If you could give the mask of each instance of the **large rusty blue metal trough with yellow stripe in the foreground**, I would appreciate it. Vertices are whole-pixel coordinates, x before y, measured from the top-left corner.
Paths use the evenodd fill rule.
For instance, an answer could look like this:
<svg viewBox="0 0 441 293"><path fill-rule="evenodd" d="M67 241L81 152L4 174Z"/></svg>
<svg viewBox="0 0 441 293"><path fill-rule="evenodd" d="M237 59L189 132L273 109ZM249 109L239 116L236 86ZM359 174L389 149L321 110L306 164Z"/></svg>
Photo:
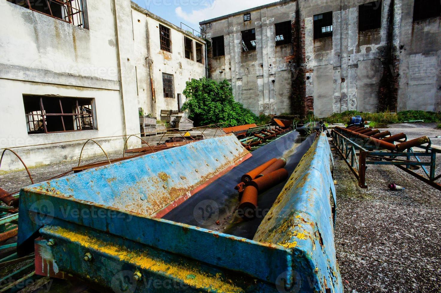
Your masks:
<svg viewBox="0 0 441 293"><path fill-rule="evenodd" d="M26 187L19 253L35 248L37 274L115 292L342 292L324 134L254 240L159 219L249 157L230 134Z"/></svg>

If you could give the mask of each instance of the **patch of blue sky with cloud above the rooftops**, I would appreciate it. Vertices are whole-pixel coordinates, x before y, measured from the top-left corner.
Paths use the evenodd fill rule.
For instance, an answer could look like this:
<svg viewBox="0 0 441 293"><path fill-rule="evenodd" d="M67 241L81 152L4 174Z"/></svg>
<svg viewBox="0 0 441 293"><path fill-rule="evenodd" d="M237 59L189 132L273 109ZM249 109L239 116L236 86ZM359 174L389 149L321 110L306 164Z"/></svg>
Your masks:
<svg viewBox="0 0 441 293"><path fill-rule="evenodd" d="M163 19L180 26L180 22L198 30L202 20L273 3L277 0L134 0ZM184 28L184 27L183 27Z"/></svg>

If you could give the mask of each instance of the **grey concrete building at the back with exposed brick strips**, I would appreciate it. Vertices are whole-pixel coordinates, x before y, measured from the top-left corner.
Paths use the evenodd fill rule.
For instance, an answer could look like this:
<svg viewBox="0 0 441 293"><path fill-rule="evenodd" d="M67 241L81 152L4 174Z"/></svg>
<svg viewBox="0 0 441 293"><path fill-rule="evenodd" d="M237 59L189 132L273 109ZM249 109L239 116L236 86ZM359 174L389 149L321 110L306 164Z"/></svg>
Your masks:
<svg viewBox="0 0 441 293"><path fill-rule="evenodd" d="M441 111L440 6L282 0L203 21L215 48L208 50L209 74L231 80L236 99L255 114ZM287 20L292 31L284 35ZM255 48L242 49L243 32L253 29ZM290 44L277 45L286 35Z"/></svg>

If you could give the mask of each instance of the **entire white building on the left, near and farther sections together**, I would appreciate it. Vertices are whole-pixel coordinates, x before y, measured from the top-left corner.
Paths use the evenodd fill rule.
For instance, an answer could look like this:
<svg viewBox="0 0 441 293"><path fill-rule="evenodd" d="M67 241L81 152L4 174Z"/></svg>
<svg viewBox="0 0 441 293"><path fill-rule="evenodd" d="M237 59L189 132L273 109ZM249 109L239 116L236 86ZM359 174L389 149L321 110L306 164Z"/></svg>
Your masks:
<svg viewBox="0 0 441 293"><path fill-rule="evenodd" d="M202 63L181 58L186 32L129 0L53 2L0 0L8 23L0 31L0 149L14 148L28 167L78 160L90 138L122 153L126 137L140 133L138 107L153 115L178 108L177 95L164 98L162 71L175 76L175 93L189 78L206 75L205 56ZM172 54L156 48L159 22L173 30ZM196 39L205 45L193 37L194 46ZM138 145L139 139L128 141ZM100 153L89 143L82 157ZM5 155L0 172L20 168Z"/></svg>

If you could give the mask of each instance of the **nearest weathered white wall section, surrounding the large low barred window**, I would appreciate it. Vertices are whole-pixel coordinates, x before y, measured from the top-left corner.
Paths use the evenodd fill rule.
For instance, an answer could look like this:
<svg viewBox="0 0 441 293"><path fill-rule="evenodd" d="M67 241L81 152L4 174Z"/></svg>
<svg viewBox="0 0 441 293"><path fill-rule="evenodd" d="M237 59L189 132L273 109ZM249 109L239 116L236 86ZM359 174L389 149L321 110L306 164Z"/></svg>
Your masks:
<svg viewBox="0 0 441 293"><path fill-rule="evenodd" d="M0 124L7 126L0 129L0 148L139 133L135 71L128 61L133 51L124 46L131 22L122 21L130 19L130 10L127 0L88 1L89 29L83 29L0 0L0 19L8 24L0 31ZM93 98L97 130L27 134L22 94ZM122 151L122 138L101 142L106 151ZM78 159L82 143L16 151L32 167ZM90 144L83 155L99 153ZM5 157L0 171L22 168L10 158Z"/></svg>

